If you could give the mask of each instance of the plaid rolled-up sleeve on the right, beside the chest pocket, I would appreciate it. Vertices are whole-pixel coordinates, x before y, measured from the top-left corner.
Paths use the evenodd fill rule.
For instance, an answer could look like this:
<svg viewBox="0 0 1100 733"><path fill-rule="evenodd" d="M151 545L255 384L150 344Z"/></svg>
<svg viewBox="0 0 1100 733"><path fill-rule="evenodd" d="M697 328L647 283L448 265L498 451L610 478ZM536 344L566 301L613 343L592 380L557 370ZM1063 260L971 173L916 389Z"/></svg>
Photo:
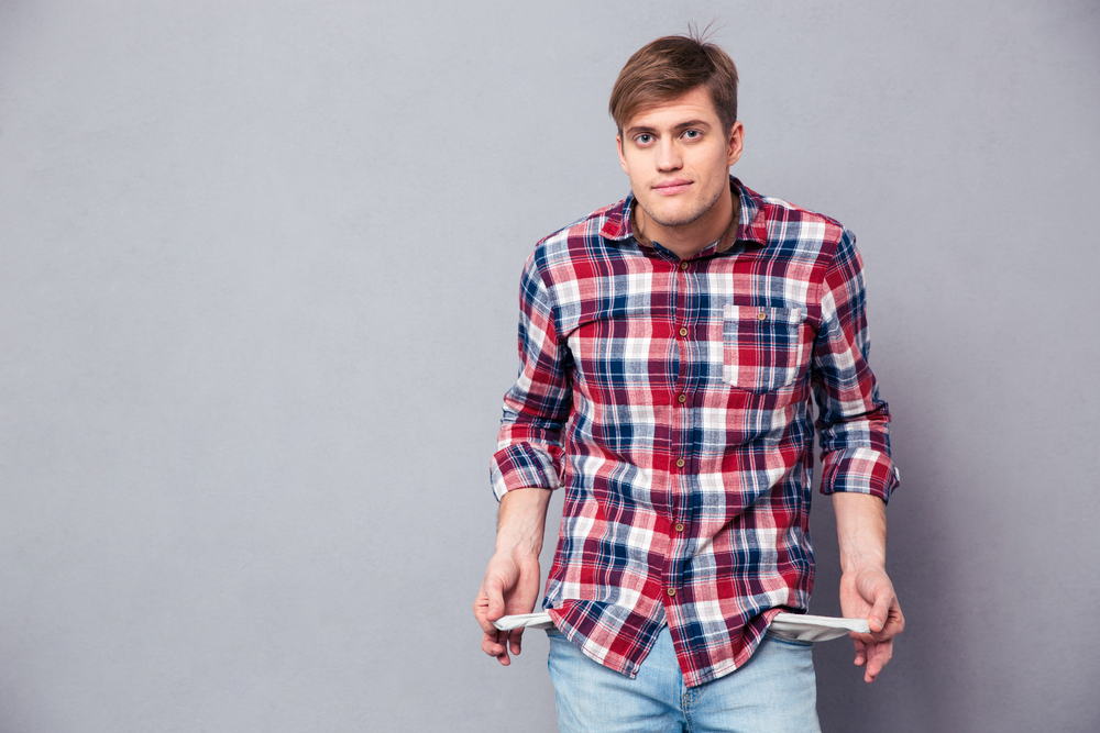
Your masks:
<svg viewBox="0 0 1100 733"><path fill-rule="evenodd" d="M899 485L890 457L890 410L867 364L866 295L855 236L844 231L822 282L822 324L813 385L822 446L822 493L851 491L890 500Z"/></svg>

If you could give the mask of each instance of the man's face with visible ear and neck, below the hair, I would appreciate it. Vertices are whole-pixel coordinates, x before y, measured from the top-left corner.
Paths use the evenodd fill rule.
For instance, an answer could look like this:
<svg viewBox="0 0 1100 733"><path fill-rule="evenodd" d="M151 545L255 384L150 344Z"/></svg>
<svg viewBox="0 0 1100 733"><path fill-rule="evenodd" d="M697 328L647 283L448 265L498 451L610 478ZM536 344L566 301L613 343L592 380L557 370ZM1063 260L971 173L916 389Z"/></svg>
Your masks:
<svg viewBox="0 0 1100 733"><path fill-rule="evenodd" d="M729 166L741 156L743 138L741 123L723 130L710 92L696 87L641 110L615 140L638 206L669 234L728 216Z"/></svg>

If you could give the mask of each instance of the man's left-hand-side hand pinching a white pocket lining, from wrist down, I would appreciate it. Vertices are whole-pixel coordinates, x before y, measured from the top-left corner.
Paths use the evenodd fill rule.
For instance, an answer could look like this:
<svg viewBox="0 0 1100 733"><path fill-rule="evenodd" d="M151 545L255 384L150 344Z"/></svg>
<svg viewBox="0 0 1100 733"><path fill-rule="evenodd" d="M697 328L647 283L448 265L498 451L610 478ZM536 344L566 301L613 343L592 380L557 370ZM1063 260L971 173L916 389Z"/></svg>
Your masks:
<svg viewBox="0 0 1100 733"><path fill-rule="evenodd" d="M502 617L530 613L539 596L539 558L518 552L497 552L485 569L474 599L474 618L482 628L482 651L504 666L512 664L508 649L518 655L522 629L501 631L493 625Z"/></svg>

